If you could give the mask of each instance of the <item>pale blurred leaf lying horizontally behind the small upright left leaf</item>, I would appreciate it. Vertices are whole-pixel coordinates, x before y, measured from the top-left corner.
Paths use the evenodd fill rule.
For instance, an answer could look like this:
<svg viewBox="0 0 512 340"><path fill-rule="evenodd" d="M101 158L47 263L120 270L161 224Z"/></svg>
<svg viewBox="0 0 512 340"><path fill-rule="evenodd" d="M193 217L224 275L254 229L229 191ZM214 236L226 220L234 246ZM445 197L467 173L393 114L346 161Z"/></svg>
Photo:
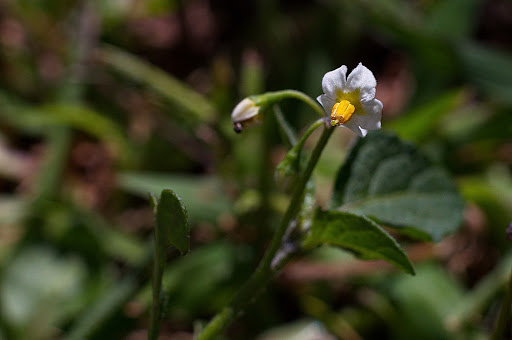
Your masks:
<svg viewBox="0 0 512 340"><path fill-rule="evenodd" d="M118 185L143 198L148 192L173 188L185 203L192 221L215 221L231 209L228 198L220 189L220 181L214 176L124 172L118 176Z"/></svg>

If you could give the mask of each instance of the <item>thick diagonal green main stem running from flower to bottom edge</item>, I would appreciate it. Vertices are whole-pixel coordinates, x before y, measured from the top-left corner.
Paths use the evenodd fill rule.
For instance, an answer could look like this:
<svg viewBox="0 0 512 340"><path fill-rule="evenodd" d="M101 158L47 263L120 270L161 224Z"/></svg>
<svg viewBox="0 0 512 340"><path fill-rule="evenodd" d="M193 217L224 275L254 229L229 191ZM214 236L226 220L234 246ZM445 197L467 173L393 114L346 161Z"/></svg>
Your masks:
<svg viewBox="0 0 512 340"><path fill-rule="evenodd" d="M304 189L306 187L313 169L322 154L322 151L329 140L334 128L325 127L323 133L315 146L311 157L309 158L306 170L299 178L293 196L288 206L279 228L276 230L274 237L267 248L263 259L261 260L258 268L254 271L249 280L234 296L231 303L224 307L220 313L218 313L210 323L206 325L204 330L198 335L196 340L208 340L215 339L220 333L222 333L227 326L245 309L245 307L254 299L254 297L260 293L267 284L279 273L280 269L290 260L291 256L285 257L276 266L272 266L272 259L276 255L277 251L281 247L283 236L292 220L299 210Z"/></svg>

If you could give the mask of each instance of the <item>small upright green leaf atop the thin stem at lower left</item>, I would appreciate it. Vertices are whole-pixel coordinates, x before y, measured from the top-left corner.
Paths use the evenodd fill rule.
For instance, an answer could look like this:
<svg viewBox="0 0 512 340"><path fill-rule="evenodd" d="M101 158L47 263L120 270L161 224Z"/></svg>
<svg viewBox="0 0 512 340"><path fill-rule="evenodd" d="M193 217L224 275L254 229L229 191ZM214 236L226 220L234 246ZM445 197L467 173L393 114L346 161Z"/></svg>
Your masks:
<svg viewBox="0 0 512 340"><path fill-rule="evenodd" d="M190 227L187 209L181 198L172 190L163 190L156 208L156 227L159 242L174 246L182 254L190 249Z"/></svg>

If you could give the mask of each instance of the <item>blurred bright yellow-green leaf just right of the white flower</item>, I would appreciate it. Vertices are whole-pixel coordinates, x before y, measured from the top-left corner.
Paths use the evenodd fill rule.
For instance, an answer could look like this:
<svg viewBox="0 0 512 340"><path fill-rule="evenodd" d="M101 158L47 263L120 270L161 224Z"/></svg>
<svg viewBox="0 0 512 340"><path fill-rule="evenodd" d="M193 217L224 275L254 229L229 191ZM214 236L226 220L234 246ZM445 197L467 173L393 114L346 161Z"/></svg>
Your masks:
<svg viewBox="0 0 512 340"><path fill-rule="evenodd" d="M459 106L464 99L461 90L449 92L427 104L398 117L386 125L401 138L422 141L435 132L441 118Z"/></svg>

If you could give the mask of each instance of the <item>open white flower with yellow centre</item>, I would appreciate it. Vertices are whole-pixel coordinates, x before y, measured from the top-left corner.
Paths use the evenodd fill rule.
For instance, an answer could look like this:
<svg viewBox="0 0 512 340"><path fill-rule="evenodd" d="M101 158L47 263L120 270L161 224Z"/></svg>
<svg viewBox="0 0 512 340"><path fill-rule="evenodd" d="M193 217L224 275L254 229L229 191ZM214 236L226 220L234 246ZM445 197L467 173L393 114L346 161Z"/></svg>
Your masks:
<svg viewBox="0 0 512 340"><path fill-rule="evenodd" d="M317 100L331 117L332 126L345 126L361 137L380 129L382 103L375 99L377 81L372 71L359 63L347 77L345 65L327 72L322 79L325 94Z"/></svg>

